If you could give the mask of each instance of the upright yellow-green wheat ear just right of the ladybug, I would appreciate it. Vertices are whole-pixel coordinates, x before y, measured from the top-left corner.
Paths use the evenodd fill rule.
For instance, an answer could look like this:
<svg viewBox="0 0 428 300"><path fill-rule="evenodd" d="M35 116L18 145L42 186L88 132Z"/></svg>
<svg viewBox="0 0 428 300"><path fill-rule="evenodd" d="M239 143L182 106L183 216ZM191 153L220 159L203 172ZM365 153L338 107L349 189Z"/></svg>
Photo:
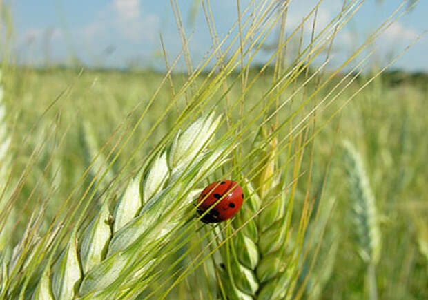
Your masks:
<svg viewBox="0 0 428 300"><path fill-rule="evenodd" d="M246 198L232 222L240 230L221 248L222 284L231 299L282 299L295 284L295 262L286 249L289 212L276 162L277 141L259 142L267 135L264 129L257 134L255 147L263 147L254 159L258 171L242 182Z"/></svg>

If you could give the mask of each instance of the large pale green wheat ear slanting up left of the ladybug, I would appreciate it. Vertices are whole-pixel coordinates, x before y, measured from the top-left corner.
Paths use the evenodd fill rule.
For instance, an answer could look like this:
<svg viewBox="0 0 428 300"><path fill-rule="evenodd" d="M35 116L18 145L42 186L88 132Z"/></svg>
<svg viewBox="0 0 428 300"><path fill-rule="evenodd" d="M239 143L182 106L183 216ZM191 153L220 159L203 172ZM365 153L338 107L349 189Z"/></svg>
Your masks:
<svg viewBox="0 0 428 300"><path fill-rule="evenodd" d="M219 123L211 113L177 133L171 148L157 153L130 180L115 206L113 225L104 203L83 235L73 232L33 297L106 299L148 276L171 232L186 222L195 183L226 162L226 146L207 150ZM113 283L117 289L110 288Z"/></svg>

